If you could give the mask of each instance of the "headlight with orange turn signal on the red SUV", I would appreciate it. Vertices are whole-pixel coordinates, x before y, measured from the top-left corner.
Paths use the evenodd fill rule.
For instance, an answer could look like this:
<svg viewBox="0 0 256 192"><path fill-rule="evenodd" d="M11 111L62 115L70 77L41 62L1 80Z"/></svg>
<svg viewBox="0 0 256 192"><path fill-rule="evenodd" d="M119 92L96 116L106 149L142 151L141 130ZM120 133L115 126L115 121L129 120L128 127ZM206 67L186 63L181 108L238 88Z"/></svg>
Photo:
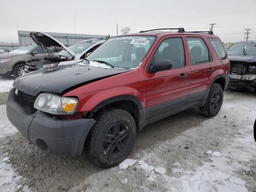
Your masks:
<svg viewBox="0 0 256 192"><path fill-rule="evenodd" d="M78 99L61 97L56 94L42 93L34 103L34 108L57 115L74 114Z"/></svg>

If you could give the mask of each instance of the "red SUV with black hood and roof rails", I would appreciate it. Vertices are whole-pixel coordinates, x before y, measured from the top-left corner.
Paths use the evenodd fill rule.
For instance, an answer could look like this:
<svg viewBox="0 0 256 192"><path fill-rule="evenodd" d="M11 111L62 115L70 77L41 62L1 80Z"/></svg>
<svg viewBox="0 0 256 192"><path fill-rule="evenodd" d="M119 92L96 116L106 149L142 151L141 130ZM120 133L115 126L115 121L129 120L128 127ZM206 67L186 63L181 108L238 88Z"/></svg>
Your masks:
<svg viewBox="0 0 256 192"><path fill-rule="evenodd" d="M136 132L199 106L222 106L230 62L212 32L142 31L110 38L77 64L14 81L7 116L44 152L78 156L100 167L122 162Z"/></svg>

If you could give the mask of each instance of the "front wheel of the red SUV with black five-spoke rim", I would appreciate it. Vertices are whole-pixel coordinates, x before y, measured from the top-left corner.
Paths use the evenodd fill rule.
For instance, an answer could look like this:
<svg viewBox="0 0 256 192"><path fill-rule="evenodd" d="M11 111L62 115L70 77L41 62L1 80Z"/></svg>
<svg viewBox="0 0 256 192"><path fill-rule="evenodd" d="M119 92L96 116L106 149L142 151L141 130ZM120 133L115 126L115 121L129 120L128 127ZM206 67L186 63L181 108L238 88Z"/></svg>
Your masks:
<svg viewBox="0 0 256 192"><path fill-rule="evenodd" d="M101 168L122 162L131 152L136 138L136 124L125 110L110 108L98 113L86 139L90 160ZM105 142L104 142L105 141Z"/></svg>

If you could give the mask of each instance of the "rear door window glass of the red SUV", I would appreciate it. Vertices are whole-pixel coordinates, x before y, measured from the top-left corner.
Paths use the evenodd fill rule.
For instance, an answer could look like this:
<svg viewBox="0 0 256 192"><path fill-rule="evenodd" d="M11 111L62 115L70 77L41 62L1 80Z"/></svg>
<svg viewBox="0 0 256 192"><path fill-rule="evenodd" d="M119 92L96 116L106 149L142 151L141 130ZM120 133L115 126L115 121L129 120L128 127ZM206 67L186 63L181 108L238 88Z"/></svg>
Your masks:
<svg viewBox="0 0 256 192"><path fill-rule="evenodd" d="M211 62L208 47L201 38L187 37L191 65Z"/></svg>

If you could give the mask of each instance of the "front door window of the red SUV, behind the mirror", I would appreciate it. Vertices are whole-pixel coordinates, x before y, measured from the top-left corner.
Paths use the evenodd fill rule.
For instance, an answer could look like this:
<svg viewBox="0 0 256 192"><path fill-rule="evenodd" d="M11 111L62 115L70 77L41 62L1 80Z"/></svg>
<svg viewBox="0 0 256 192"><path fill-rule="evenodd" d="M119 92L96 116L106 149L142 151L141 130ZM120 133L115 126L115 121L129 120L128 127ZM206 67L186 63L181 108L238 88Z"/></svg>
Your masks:
<svg viewBox="0 0 256 192"><path fill-rule="evenodd" d="M170 60L172 68L180 68L185 66L184 46L182 38L165 39L156 50L151 64L158 60Z"/></svg>

